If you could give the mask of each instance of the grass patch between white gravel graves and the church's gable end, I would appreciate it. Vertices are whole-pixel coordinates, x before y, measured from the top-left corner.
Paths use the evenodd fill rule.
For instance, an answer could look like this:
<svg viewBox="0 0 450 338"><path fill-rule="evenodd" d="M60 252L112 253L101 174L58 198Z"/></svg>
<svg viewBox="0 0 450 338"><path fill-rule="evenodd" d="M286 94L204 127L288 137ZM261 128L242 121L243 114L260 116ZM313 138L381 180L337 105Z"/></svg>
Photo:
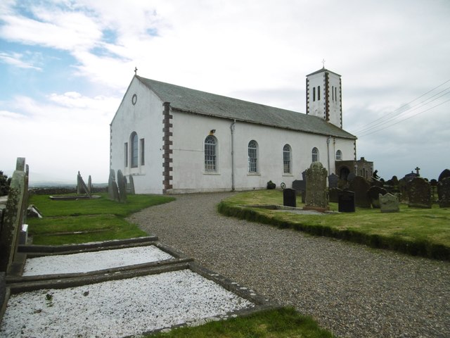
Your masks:
<svg viewBox="0 0 450 338"><path fill-rule="evenodd" d="M173 197L130 195L126 204L100 199L55 201L49 195L32 195L30 204L39 208L44 218L28 218L33 244L62 245L100 242L111 239L143 237L148 234L125 217L149 206L173 201Z"/></svg>

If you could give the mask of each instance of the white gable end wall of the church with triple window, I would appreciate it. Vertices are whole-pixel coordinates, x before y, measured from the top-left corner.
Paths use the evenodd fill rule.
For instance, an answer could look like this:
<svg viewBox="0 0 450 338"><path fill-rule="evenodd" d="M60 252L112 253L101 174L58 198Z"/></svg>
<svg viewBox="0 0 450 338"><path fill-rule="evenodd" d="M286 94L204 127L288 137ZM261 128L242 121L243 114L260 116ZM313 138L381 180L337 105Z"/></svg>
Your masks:
<svg viewBox="0 0 450 338"><path fill-rule="evenodd" d="M132 104L136 94L136 104ZM136 194L162 194L162 101L139 80L131 82L111 125L111 168L133 175ZM132 132L138 142L138 166L131 168ZM141 165L141 139L144 139L144 164ZM125 166L125 142L128 165Z"/></svg>

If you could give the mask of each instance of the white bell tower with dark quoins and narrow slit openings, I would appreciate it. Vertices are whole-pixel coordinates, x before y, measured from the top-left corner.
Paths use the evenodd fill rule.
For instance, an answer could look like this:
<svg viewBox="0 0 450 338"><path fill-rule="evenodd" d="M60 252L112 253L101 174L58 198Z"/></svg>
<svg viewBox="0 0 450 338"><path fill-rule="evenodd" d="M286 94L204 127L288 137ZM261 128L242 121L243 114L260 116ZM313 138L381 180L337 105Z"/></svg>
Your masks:
<svg viewBox="0 0 450 338"><path fill-rule="evenodd" d="M307 75L307 114L342 128L342 85L340 75L326 69Z"/></svg>

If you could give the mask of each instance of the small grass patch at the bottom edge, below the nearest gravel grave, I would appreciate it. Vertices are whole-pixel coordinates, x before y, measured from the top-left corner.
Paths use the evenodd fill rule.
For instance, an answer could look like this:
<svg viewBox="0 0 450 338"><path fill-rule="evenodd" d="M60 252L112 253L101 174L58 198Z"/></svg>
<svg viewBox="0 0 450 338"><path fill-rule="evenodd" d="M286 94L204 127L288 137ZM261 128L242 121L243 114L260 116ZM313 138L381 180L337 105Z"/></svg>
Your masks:
<svg viewBox="0 0 450 338"><path fill-rule="evenodd" d="M179 327L167 333L153 334L155 338L331 338L333 334L317 323L300 315L293 308L262 311L245 318L210 322L198 327Z"/></svg>

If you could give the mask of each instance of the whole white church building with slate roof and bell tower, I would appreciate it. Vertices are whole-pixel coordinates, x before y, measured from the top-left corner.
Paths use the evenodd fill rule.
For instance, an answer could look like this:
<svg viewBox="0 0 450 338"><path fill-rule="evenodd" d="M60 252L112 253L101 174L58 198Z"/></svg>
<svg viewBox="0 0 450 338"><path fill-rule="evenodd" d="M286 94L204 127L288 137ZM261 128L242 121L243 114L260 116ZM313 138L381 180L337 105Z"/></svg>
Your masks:
<svg viewBox="0 0 450 338"><path fill-rule="evenodd" d="M311 162L330 174L355 160L341 78L326 68L307 75L306 114L134 75L110 124L110 169L136 194L291 187Z"/></svg>

